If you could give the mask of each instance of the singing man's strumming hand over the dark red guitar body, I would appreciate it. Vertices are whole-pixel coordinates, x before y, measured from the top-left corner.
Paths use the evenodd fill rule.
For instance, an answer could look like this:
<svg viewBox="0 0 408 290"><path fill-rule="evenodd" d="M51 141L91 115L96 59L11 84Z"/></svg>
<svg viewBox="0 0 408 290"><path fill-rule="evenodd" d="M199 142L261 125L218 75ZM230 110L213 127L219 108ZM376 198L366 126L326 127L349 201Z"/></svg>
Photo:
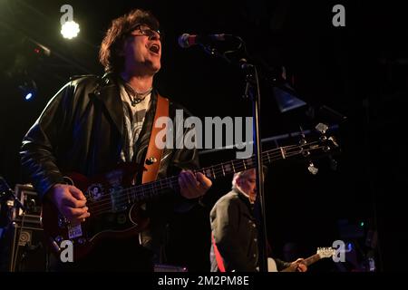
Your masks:
<svg viewBox="0 0 408 290"><path fill-rule="evenodd" d="M83 192L72 185L55 184L50 189L49 197L60 213L72 223L83 222L90 216Z"/></svg>

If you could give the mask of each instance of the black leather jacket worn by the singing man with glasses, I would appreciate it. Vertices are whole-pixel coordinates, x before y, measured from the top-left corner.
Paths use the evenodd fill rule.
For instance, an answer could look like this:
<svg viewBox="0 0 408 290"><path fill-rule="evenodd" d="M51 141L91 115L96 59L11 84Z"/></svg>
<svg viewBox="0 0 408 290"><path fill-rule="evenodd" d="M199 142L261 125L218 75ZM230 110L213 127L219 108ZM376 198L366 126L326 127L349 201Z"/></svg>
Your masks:
<svg viewBox="0 0 408 290"><path fill-rule="evenodd" d="M143 163L146 155L156 102L157 92L153 91L151 110L146 113L135 147L138 148L135 152L138 164ZM177 109L186 112L170 102L169 113L173 120ZM124 131L123 108L115 76L81 77L56 93L25 135L20 152L23 169L44 198L55 183L63 182L63 172L74 171L92 177L114 169L121 162ZM198 167L197 150L166 149L158 178L176 174L177 169Z"/></svg>

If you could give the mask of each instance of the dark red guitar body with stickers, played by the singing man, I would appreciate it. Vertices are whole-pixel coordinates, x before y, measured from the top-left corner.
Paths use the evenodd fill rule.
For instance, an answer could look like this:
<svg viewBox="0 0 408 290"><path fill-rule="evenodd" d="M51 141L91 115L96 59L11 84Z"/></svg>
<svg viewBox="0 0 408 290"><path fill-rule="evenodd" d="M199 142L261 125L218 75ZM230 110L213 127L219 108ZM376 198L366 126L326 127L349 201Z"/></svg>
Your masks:
<svg viewBox="0 0 408 290"><path fill-rule="evenodd" d="M147 227L141 204L126 190L131 187L137 167L134 163L124 163L109 173L88 179L73 173L67 176L73 186L83 191L86 206L91 216L81 224L72 224L53 206L44 200L42 224L53 250L58 254L63 240L73 243L73 258L86 256L96 243L106 237L135 237Z"/></svg>

